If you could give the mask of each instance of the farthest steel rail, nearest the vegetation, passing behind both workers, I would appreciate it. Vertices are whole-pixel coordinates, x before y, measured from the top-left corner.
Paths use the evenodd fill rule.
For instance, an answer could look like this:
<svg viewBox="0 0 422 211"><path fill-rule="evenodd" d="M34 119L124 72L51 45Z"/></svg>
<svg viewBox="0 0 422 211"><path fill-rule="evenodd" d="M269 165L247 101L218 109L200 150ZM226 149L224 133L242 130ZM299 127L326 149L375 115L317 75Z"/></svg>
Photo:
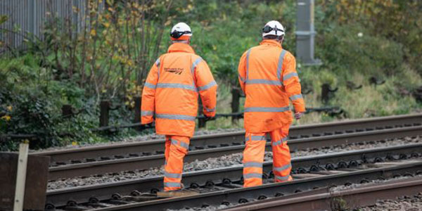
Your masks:
<svg viewBox="0 0 422 211"><path fill-rule="evenodd" d="M329 122L323 124L309 124L290 128L290 139L321 136L345 132L362 132L365 130L383 129L392 127L407 127L421 125L422 114L395 115L389 117L375 117L343 122ZM191 149L205 146L226 146L227 143L243 143L245 132L229 132L194 136L191 139ZM51 162L68 162L70 160L85 160L86 158L100 158L110 155L128 155L130 153L159 153L164 149L164 140L141 141L135 143L116 143L107 146L87 146L83 148L63 149L31 153L32 155L50 156Z"/></svg>

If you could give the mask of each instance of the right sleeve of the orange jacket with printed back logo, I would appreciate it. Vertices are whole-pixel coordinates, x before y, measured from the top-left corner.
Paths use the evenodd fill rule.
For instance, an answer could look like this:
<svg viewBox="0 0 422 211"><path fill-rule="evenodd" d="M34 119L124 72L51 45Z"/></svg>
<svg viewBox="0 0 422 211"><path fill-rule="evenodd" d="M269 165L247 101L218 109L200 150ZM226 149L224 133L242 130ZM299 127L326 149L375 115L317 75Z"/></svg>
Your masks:
<svg viewBox="0 0 422 211"><path fill-rule="evenodd" d="M205 60L197 58L199 63L194 67L196 78L196 87L199 91L200 99L203 102L203 113L207 117L215 116L215 108L217 106L217 82Z"/></svg>

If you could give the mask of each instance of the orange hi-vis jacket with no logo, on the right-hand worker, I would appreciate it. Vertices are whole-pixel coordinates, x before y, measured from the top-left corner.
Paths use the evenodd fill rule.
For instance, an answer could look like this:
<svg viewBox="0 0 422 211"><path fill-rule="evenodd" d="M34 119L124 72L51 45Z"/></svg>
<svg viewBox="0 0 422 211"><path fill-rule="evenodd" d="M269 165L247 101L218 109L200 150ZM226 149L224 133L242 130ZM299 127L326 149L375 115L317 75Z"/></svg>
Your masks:
<svg viewBox="0 0 422 211"><path fill-rule="evenodd" d="M295 57L274 40L264 40L241 57L239 82L245 93L246 132L271 132L293 120L295 112L305 112Z"/></svg>

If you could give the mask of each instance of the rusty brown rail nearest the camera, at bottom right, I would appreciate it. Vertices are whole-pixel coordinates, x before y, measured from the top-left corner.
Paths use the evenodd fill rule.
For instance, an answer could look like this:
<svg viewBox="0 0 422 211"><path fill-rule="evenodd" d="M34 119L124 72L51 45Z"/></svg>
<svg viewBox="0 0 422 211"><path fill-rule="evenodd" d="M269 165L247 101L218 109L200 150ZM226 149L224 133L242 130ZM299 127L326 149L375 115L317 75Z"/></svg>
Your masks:
<svg viewBox="0 0 422 211"><path fill-rule="evenodd" d="M257 201L247 205L224 209L225 211L241 210L265 210L278 211L283 207L286 211L296 210L331 210L331 205L339 205L343 208L354 209L368 205L374 205L377 200L395 199L401 196L414 196L422 190L422 179L400 179L398 181L383 184L371 184L357 188L334 191L331 193L314 193L295 198L274 198L271 200ZM347 207L344 207L347 205ZM341 206L341 205L340 205Z"/></svg>

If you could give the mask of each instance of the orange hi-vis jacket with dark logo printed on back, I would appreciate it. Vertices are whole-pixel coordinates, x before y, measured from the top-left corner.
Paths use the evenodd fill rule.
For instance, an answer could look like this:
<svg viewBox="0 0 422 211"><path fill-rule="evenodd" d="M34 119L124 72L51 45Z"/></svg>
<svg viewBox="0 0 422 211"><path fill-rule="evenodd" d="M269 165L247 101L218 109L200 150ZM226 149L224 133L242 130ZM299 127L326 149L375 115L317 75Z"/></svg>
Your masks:
<svg viewBox="0 0 422 211"><path fill-rule="evenodd" d="M141 123L153 122L157 134L193 136L198 113L215 116L217 83L205 60L188 44L174 43L151 68L142 91Z"/></svg>

